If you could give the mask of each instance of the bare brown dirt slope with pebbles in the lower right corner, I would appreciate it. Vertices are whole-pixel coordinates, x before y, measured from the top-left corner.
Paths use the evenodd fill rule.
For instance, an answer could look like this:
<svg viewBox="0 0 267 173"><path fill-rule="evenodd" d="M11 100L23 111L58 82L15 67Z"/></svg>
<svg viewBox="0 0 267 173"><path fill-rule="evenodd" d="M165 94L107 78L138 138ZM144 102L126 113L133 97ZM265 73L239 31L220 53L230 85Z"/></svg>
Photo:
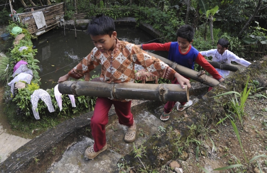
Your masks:
<svg viewBox="0 0 267 173"><path fill-rule="evenodd" d="M261 93L267 92L263 90ZM240 122L235 122L242 142L243 154L236 133L229 119L216 125L212 122L210 126L200 131L197 140L199 145L199 161L196 160L196 143L191 143L186 151L188 159L178 160L184 173L267 173L267 158L259 157L249 164L249 161L262 154L267 154L267 99L248 98L245 103L244 129ZM223 119L224 117L221 117ZM213 143L214 146L213 147ZM245 157L247 159L245 159ZM247 160L247 161L246 161ZM257 163L258 161L258 163ZM214 171L234 164L243 167ZM260 169L259 169L259 166Z"/></svg>

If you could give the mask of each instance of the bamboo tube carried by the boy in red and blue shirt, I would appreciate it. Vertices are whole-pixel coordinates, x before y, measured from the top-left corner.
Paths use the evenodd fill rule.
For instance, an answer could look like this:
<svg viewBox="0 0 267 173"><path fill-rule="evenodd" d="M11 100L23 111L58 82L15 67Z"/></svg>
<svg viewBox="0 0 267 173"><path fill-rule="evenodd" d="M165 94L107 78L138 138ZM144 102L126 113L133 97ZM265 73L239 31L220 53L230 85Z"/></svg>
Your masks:
<svg viewBox="0 0 267 173"><path fill-rule="evenodd" d="M177 64L176 62L173 62L169 59L166 59L166 58L159 56L159 55L156 55L154 53L151 53L151 52L147 52L147 53L151 56L154 56L155 58L160 59L164 63L168 64L170 67L172 67L175 71L177 71L182 76L186 76L188 78L191 78L195 81L198 81L198 82L205 84L205 85L208 85L210 87L215 87L218 84L220 84L220 82L218 80L211 78L208 75L198 76L197 71L194 71L194 70L189 69L187 67L181 66L181 65Z"/></svg>

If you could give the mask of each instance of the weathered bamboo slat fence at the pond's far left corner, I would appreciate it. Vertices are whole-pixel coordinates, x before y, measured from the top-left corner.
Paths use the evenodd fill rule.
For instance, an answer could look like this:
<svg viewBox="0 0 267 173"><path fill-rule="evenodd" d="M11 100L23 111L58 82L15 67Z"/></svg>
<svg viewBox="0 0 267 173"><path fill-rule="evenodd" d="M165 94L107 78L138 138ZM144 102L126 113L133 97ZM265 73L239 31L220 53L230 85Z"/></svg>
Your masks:
<svg viewBox="0 0 267 173"><path fill-rule="evenodd" d="M37 11L43 11L43 14L45 17L46 27L43 27L40 29L37 28L34 17L32 15L33 12L37 12ZM58 23L60 23L61 19L63 19L63 17L64 17L64 2L55 4L53 6L48 6L48 7L42 8L42 9L37 9L34 11L21 13L21 14L18 14L18 16L20 18L20 21L23 24L28 25L28 31L31 34L35 34L39 31L43 31L43 30L45 30L45 32L47 32L47 31L51 30L52 28L54 28Z"/></svg>

